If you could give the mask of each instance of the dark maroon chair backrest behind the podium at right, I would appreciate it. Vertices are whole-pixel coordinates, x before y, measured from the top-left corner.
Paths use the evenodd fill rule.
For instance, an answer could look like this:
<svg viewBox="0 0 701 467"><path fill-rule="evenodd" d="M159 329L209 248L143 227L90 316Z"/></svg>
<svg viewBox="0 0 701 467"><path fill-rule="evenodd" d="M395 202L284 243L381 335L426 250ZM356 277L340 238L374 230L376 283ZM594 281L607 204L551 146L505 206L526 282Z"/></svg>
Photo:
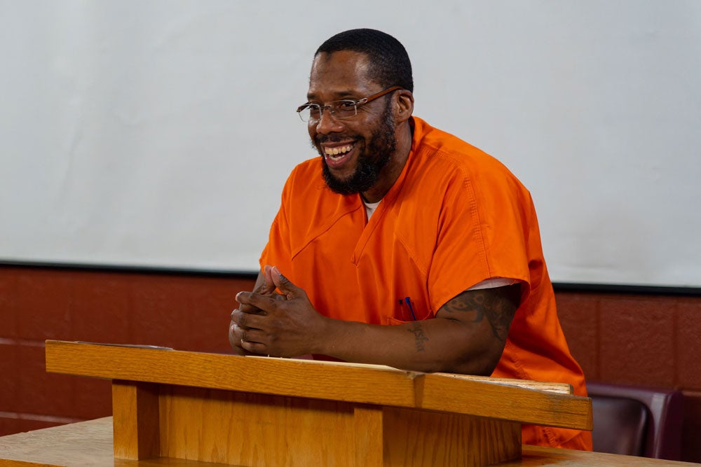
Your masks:
<svg viewBox="0 0 701 467"><path fill-rule="evenodd" d="M587 382L594 451L678 461L683 396L676 389Z"/></svg>

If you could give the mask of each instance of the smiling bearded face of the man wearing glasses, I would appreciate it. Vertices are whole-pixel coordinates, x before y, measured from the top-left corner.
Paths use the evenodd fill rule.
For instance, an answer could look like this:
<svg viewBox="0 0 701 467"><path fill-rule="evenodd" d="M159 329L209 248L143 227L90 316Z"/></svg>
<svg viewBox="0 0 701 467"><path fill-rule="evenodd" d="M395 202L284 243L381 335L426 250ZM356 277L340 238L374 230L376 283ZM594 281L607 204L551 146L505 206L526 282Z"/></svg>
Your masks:
<svg viewBox="0 0 701 467"><path fill-rule="evenodd" d="M362 99L382 90L369 81L367 56L341 51L315 57L307 99L321 105ZM322 156L324 180L342 195L362 193L381 179L381 169L395 152L395 122L390 95L358 107L358 115L339 120L325 110L308 125L312 144Z"/></svg>

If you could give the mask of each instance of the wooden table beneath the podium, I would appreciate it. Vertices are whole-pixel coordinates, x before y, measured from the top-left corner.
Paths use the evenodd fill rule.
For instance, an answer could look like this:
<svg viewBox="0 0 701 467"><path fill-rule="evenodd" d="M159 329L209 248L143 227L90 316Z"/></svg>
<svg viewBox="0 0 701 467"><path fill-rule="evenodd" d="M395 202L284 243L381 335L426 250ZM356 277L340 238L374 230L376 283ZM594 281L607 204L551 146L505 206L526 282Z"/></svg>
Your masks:
<svg viewBox="0 0 701 467"><path fill-rule="evenodd" d="M524 446L522 459L496 464L498 467L661 467L699 465L701 464L536 446ZM0 467L10 466L224 467L224 464L165 458L142 461L114 459L112 417L105 417L0 437ZM228 465L228 467L231 466Z"/></svg>

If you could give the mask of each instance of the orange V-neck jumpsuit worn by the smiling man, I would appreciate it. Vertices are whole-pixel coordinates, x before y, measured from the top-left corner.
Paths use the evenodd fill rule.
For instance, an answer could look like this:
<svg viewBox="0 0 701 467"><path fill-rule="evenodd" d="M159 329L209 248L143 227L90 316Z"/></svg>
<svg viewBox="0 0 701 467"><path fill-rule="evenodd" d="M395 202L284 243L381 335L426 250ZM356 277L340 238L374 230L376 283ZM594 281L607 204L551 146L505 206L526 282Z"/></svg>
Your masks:
<svg viewBox="0 0 701 467"><path fill-rule="evenodd" d="M369 221L360 195L327 188L320 158L295 167L261 267L278 266L326 316L384 325L431 319L484 279L516 279L521 305L492 376L566 382L586 396L530 193L490 155L420 118L412 123L407 164ZM591 449L584 431L524 426L522 434L524 444Z"/></svg>

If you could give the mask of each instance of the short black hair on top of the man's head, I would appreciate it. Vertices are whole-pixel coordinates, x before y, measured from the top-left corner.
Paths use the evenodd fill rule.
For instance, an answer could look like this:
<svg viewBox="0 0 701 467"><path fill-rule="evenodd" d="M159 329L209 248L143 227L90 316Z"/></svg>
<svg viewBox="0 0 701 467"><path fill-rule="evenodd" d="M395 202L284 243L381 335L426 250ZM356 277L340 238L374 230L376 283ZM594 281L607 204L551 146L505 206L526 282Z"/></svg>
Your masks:
<svg viewBox="0 0 701 467"><path fill-rule="evenodd" d="M351 29L339 32L322 43L314 56L342 50L365 53L370 59L369 78L384 88L402 86L414 92L411 61L402 43L376 29Z"/></svg>

